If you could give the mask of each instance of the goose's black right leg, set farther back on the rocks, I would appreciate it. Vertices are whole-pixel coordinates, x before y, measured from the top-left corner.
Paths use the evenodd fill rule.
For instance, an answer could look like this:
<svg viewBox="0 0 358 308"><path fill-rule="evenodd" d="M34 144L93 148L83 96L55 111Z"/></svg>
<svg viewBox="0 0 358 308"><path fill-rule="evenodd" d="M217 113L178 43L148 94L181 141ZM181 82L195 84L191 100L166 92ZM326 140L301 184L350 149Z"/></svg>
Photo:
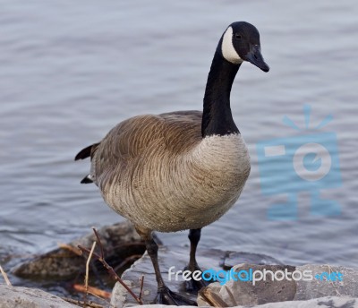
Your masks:
<svg viewBox="0 0 358 308"><path fill-rule="evenodd" d="M200 270L200 267L196 261L196 248L198 247L200 241L201 229L191 229L189 231L189 240L191 242L191 251L190 251L190 259L189 264L184 268L184 270L190 270L194 272L196 270ZM202 271L202 270L200 270ZM194 280L191 279L189 281L185 281L185 289L188 292L197 293L201 287L207 287L209 283L203 279Z"/></svg>

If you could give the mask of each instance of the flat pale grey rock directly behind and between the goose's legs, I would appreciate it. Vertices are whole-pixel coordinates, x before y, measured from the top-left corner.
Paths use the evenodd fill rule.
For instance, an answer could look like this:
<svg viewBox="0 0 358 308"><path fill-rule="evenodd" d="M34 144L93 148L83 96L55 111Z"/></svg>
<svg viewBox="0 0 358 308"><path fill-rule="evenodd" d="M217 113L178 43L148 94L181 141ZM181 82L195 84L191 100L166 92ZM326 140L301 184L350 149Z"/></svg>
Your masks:
<svg viewBox="0 0 358 308"><path fill-rule="evenodd" d="M229 255L233 255L233 259L240 261L264 261L267 256L262 254L254 254L247 252L223 252L216 249L199 250L197 252L197 260L202 270L223 270L223 264L226 264L226 258ZM268 257L269 258L269 257ZM229 259L229 260L233 260ZM189 260L189 249L178 246L160 247L158 252L159 267L162 272L163 278L166 281L167 286L174 292L178 292L186 297L196 300L196 295L191 295L184 290L183 278L175 281L174 275L172 280L168 281L168 270L171 267L175 267L173 272L177 270L183 270ZM270 259L274 260L274 259ZM277 263L280 263L277 261ZM220 266L221 264L221 266ZM144 275L144 295L142 296L145 304L151 303L157 295L157 281L155 278L152 263L149 255L145 253L140 260L135 261L129 270L124 271L122 278L128 282L132 287L134 294L140 293L140 281L141 275ZM112 293L112 304L115 307L129 307L137 305L131 295L128 295L124 287L118 283Z"/></svg>

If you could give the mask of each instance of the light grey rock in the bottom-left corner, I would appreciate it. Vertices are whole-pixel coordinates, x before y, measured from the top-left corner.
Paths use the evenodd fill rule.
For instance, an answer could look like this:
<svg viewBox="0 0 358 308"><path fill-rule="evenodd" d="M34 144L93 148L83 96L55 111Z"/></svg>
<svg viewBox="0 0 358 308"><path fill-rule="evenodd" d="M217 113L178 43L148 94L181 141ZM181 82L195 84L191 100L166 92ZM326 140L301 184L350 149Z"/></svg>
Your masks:
<svg viewBox="0 0 358 308"><path fill-rule="evenodd" d="M78 308L39 289L0 285L0 308Z"/></svg>

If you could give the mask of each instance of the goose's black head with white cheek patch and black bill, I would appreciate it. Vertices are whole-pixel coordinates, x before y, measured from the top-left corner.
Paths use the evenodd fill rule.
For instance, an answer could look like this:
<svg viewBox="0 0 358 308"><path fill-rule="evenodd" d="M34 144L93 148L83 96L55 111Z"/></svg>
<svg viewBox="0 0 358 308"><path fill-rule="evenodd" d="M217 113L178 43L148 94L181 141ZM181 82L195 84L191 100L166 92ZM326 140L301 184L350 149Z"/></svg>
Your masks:
<svg viewBox="0 0 358 308"><path fill-rule="evenodd" d="M227 61L241 64L248 61L268 72L268 64L261 55L259 31L249 22L233 22L221 39L221 53Z"/></svg>

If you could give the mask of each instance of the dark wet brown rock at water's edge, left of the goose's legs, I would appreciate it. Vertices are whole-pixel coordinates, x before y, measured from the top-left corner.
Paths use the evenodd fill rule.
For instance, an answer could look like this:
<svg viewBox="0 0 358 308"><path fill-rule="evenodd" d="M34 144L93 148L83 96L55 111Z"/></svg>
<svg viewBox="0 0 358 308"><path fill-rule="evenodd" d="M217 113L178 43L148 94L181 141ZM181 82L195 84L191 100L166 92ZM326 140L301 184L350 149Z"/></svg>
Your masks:
<svg viewBox="0 0 358 308"><path fill-rule="evenodd" d="M98 234L105 250L106 260L113 266L133 255L140 256L145 252L144 242L129 221L101 227L98 229ZM69 245L74 249L79 244L90 248L93 241L95 235L90 232ZM99 249L98 245L97 249ZM25 261L14 269L13 273L21 278L69 279L84 269L84 263L82 256L68 249L58 248L33 260ZM98 266L101 268L100 265Z"/></svg>

